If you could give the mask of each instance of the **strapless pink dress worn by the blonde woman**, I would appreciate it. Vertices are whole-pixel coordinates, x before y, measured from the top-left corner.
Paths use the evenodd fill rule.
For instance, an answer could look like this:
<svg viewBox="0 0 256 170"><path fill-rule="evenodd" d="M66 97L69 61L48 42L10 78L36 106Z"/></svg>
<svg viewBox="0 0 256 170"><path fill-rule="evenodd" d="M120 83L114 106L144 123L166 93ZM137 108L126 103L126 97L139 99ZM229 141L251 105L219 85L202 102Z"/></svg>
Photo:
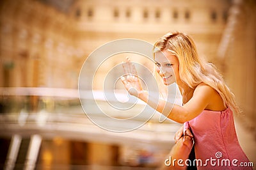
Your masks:
<svg viewBox="0 0 256 170"><path fill-rule="evenodd" d="M252 169L238 142L231 109L204 110L184 123L184 131L187 128L194 135L197 169Z"/></svg>

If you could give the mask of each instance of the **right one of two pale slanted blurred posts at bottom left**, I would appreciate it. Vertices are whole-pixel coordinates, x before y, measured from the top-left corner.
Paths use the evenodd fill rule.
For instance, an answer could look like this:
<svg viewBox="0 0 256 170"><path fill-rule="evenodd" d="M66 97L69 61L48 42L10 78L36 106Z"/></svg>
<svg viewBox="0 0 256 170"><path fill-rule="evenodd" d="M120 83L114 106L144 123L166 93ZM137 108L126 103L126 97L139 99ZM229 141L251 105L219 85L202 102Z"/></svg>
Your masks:
<svg viewBox="0 0 256 170"><path fill-rule="evenodd" d="M26 157L26 162L24 169L30 170L35 169L36 159L38 157L38 152L40 150L42 142L42 137L40 135L33 135L29 143L28 153Z"/></svg>

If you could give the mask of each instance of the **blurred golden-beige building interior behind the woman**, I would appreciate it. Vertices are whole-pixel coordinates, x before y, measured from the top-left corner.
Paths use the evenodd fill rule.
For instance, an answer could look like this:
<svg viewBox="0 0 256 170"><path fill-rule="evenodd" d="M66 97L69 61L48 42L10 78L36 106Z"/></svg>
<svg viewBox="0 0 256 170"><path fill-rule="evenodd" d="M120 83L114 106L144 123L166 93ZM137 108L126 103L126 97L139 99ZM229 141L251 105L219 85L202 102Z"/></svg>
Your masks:
<svg viewBox="0 0 256 170"><path fill-rule="evenodd" d="M156 169L163 164L179 123L158 123L154 117L131 132L103 130L84 114L77 82L85 59L100 45L120 38L154 43L168 31L193 36L200 56L223 73L244 112L235 116L239 141L255 165L255 11L253 0L2 0L0 168ZM121 60L109 61L97 76L103 79ZM85 100L87 107L92 100L108 105L100 96Z"/></svg>

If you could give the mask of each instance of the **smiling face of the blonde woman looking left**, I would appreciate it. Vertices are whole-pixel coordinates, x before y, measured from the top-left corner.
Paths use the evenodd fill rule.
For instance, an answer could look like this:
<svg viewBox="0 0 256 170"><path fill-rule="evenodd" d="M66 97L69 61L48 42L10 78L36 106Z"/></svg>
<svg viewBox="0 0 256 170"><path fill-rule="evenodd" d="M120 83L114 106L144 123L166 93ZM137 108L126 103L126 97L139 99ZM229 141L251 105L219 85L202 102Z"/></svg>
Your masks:
<svg viewBox="0 0 256 170"><path fill-rule="evenodd" d="M180 82L179 59L170 54L167 50L155 53L156 71L163 79L163 83L168 86L173 82Z"/></svg>

